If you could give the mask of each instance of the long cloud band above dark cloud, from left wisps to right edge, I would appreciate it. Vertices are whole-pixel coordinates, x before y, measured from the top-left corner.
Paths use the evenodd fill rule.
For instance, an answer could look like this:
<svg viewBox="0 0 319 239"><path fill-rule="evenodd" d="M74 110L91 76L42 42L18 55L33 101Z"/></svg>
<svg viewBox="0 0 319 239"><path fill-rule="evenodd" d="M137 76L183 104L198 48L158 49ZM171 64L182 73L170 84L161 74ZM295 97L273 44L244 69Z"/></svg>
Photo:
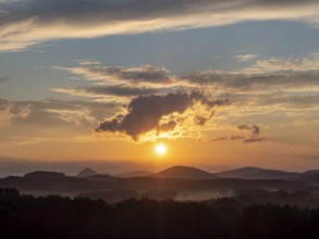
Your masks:
<svg viewBox="0 0 319 239"><path fill-rule="evenodd" d="M172 75L164 67L139 65L60 67L86 80L101 81L107 85L144 88L203 88L213 89L214 93L233 95L270 91L319 90L319 55L310 54L296 58L270 58L258 60L249 67L232 72L197 71L188 75Z"/></svg>

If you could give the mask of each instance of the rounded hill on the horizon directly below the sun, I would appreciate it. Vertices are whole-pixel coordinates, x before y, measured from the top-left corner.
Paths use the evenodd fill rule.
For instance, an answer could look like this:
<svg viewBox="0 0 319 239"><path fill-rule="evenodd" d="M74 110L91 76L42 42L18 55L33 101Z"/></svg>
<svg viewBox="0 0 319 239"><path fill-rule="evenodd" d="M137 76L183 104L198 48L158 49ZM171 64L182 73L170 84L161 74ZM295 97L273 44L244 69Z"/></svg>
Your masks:
<svg viewBox="0 0 319 239"><path fill-rule="evenodd" d="M159 173L150 175L151 177L160 178L184 178L184 179L212 179L217 178L216 175L206 171L201 171L195 167L187 166L173 166L161 171Z"/></svg>

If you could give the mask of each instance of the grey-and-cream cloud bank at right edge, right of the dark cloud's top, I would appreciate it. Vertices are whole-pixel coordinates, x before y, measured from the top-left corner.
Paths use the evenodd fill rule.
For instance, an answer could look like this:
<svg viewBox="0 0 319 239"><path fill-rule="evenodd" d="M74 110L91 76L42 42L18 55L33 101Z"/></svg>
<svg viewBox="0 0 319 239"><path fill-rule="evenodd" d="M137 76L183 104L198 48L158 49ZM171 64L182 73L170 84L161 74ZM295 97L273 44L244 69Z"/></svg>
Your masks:
<svg viewBox="0 0 319 239"><path fill-rule="evenodd" d="M216 92L314 91L319 90L319 56L270 58L234 72L208 70L180 78Z"/></svg>

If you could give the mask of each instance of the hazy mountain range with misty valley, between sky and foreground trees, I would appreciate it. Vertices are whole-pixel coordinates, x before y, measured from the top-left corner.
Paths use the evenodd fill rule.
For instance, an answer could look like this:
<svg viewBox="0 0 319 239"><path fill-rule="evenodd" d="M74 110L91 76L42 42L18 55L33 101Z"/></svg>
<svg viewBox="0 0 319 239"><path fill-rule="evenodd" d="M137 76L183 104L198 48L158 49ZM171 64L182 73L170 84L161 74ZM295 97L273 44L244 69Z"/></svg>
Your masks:
<svg viewBox="0 0 319 239"><path fill-rule="evenodd" d="M23 177L9 176L0 179L0 188L13 187L26 193L63 193L68 197L101 198L114 202L130 197L205 197L235 193L238 190L308 190L318 193L319 171L292 173L259 167L243 167L211 174L189 167L173 166L158 173L134 171L118 175L98 174L91 168L76 176L57 172L33 172Z"/></svg>

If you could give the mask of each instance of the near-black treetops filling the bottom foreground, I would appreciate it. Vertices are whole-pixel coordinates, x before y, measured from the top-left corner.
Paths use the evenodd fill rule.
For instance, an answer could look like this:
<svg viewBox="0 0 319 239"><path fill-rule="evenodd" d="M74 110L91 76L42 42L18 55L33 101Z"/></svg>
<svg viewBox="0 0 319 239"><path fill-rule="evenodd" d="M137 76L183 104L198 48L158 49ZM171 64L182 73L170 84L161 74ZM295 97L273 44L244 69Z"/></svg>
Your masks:
<svg viewBox="0 0 319 239"><path fill-rule="evenodd" d="M236 200L108 204L0 189L1 238L319 238L319 209L243 207Z"/></svg>

